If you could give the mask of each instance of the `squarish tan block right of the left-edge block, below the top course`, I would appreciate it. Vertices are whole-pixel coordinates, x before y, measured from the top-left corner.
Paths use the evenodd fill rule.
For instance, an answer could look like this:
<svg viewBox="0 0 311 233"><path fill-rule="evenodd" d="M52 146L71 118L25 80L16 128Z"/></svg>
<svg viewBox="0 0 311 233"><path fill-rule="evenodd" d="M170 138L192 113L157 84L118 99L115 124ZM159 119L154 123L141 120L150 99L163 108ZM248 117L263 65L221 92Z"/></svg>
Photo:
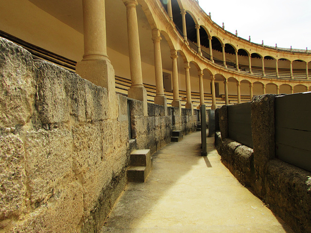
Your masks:
<svg viewBox="0 0 311 233"><path fill-rule="evenodd" d="M72 176L72 134L68 130L29 131L24 141L27 183L35 208Z"/></svg>

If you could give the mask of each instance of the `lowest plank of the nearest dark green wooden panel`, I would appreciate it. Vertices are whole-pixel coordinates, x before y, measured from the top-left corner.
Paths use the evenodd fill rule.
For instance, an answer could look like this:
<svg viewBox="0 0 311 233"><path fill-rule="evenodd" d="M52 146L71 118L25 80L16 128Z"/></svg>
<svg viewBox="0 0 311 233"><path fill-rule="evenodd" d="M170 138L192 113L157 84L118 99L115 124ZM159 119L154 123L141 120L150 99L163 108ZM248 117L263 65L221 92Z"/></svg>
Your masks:
<svg viewBox="0 0 311 233"><path fill-rule="evenodd" d="M311 171L311 155L309 150L294 148L281 143L276 143L276 156L294 166Z"/></svg>

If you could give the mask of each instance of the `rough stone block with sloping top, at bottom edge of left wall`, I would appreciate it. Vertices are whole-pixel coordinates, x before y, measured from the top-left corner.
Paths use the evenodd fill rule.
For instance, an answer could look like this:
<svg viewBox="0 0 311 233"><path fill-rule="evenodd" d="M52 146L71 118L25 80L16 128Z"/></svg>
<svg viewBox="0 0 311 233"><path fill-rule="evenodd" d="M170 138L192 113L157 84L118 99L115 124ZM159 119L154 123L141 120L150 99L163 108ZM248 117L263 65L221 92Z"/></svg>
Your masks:
<svg viewBox="0 0 311 233"><path fill-rule="evenodd" d="M13 233L79 233L83 216L83 192L78 182L72 182L57 190L43 206L17 222Z"/></svg>

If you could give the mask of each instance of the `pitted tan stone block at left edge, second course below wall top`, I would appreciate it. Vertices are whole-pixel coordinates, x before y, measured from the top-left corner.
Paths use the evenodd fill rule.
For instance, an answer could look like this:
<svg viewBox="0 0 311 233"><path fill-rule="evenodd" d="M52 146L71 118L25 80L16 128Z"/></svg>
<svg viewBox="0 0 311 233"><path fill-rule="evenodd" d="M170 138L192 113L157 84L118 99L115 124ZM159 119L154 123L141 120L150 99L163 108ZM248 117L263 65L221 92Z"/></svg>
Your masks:
<svg viewBox="0 0 311 233"><path fill-rule="evenodd" d="M12 133L0 136L0 221L25 211L25 152Z"/></svg>

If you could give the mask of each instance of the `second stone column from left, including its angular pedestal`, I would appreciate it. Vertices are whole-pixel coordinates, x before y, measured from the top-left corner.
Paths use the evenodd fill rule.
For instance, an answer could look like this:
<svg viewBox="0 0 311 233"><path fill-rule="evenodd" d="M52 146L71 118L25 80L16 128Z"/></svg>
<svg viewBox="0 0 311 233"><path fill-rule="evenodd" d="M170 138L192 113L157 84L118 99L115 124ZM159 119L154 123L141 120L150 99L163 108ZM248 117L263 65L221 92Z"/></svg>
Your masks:
<svg viewBox="0 0 311 233"><path fill-rule="evenodd" d="M141 59L139 48L138 22L136 5L137 0L123 0L126 6L127 35L130 58L132 84L128 89L128 97L144 102L144 116L148 115L147 91L142 84Z"/></svg>

